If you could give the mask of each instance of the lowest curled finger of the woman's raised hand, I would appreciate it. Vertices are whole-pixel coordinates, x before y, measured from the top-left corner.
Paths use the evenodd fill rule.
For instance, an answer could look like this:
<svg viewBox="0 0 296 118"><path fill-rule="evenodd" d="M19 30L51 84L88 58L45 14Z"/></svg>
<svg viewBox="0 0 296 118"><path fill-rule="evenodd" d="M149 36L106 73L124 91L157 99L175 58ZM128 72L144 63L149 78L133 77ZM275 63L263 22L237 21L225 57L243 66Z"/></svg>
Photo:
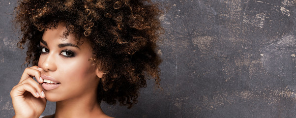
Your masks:
<svg viewBox="0 0 296 118"><path fill-rule="evenodd" d="M34 97L40 97L40 94L33 88L30 84L25 83L20 86L15 87L10 91L11 97L23 96L26 91L29 91Z"/></svg>

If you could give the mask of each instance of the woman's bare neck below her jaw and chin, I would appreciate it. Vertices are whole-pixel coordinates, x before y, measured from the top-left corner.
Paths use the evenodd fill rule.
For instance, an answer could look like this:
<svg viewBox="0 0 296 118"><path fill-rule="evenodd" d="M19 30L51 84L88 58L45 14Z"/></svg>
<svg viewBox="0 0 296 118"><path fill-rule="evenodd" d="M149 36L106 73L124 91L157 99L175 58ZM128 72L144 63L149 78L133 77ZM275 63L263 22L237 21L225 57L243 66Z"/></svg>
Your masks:
<svg viewBox="0 0 296 118"><path fill-rule="evenodd" d="M82 95L83 97L57 102L55 118L97 118L105 116L95 95L89 92Z"/></svg>

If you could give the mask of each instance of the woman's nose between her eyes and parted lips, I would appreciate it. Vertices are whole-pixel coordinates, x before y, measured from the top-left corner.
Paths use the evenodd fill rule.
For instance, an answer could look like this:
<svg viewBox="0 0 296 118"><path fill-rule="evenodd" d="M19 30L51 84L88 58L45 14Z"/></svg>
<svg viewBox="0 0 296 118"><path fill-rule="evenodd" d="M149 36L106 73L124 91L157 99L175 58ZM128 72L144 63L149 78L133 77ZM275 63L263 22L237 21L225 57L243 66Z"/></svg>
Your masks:
<svg viewBox="0 0 296 118"><path fill-rule="evenodd" d="M41 68L43 68L45 71L57 70L55 56L53 54L49 53L47 55L41 55L39 61L42 61Z"/></svg>

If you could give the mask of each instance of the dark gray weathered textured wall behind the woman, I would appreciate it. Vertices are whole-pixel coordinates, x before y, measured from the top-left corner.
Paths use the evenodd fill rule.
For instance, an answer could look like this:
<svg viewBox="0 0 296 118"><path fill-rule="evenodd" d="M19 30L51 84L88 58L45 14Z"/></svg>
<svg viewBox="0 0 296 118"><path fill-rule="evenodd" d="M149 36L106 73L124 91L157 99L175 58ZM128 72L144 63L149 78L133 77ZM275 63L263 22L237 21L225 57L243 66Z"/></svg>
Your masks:
<svg viewBox="0 0 296 118"><path fill-rule="evenodd" d="M158 0L170 9L159 42L163 91L142 89L117 118L295 118L296 0ZM0 0L0 117L24 67L11 24L15 0ZM48 103L44 115L54 113Z"/></svg>

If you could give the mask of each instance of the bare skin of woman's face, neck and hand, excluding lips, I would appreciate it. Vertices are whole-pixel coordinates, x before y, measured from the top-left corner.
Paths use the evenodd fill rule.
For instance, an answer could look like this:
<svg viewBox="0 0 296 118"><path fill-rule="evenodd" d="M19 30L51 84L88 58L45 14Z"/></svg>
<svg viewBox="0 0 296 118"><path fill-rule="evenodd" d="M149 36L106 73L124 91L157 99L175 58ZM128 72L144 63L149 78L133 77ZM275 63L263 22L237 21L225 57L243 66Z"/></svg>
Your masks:
<svg viewBox="0 0 296 118"><path fill-rule="evenodd" d="M47 100L56 102L56 113L44 118L110 118L96 101L103 72L90 60L89 42L81 39L84 43L77 45L73 35L64 38L64 31L63 24L44 31L38 66L26 68L10 92L15 118L39 118ZM59 87L43 89L41 75L53 77Z"/></svg>

